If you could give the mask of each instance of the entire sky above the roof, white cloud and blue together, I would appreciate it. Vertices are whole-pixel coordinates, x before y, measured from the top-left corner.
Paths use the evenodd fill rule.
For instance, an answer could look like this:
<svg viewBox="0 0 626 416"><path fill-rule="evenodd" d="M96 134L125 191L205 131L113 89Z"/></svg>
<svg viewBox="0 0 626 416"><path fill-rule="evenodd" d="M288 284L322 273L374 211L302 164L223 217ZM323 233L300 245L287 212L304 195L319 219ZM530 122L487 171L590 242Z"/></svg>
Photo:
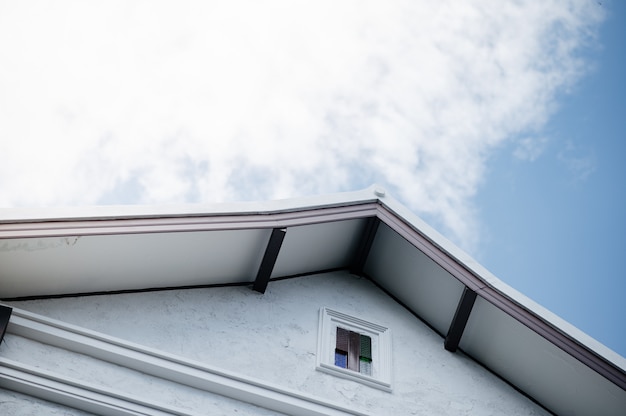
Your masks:
<svg viewBox="0 0 626 416"><path fill-rule="evenodd" d="M0 0L0 207L377 183L626 356L625 4Z"/></svg>

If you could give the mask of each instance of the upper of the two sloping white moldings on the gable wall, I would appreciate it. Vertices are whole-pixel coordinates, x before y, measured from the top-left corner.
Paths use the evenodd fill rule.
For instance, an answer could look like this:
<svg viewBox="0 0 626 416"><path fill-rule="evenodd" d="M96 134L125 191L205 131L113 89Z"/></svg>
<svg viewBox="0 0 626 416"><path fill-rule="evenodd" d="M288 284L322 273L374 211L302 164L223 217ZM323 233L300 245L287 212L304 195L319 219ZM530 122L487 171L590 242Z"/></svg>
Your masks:
<svg viewBox="0 0 626 416"><path fill-rule="evenodd" d="M187 360L173 354L20 309L13 309L8 332L69 351L89 355L168 381L285 414L303 416L367 416L367 413L359 412L322 398L286 389L263 380L209 367L203 363ZM70 388L72 386L66 383L64 384L66 387L63 388L62 386L59 387L52 384L50 380L44 380L41 384L44 388L43 390L28 394L48 400L40 394L47 391L48 387L53 390L59 389L58 391L62 394L58 395L58 400L55 401L73 407L74 401L70 399L65 401L66 399L64 398L72 397ZM116 400L119 400L114 394L107 392L102 394L104 396L99 400L106 404L114 404Z"/></svg>

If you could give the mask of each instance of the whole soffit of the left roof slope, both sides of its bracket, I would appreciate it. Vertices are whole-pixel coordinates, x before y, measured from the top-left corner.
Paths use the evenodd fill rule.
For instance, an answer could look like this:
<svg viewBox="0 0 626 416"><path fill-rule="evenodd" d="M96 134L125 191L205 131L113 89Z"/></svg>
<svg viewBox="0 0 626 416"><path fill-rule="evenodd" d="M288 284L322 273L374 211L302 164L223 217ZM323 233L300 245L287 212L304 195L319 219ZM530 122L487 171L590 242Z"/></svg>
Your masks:
<svg viewBox="0 0 626 416"><path fill-rule="evenodd" d="M364 221L287 227L272 276L347 267ZM94 234L90 224L87 235L74 229L64 236L1 239L0 298L251 283L272 230L137 232L146 225L134 222L125 234Z"/></svg>

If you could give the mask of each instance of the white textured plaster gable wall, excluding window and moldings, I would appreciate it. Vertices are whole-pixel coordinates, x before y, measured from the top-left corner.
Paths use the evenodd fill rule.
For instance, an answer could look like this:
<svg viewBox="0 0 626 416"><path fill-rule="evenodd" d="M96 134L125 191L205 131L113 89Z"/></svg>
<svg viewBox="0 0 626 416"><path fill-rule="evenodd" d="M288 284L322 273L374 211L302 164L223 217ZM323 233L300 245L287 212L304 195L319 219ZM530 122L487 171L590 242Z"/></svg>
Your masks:
<svg viewBox="0 0 626 416"><path fill-rule="evenodd" d="M13 302L11 306L363 413L548 414L462 352L444 350L438 334L373 283L345 272L270 282L265 294L248 287L222 287ZM391 329L392 392L316 371L322 307ZM161 392L173 388L128 369L99 369L101 363L89 357L64 358L62 350L14 334L8 334L6 341L1 357L64 371L84 377L85 382L119 384L125 389L145 385L150 387L142 388L148 398L159 400L167 396ZM275 414L219 395L206 399L194 394L193 389L183 389L169 400L200 414L234 410Z"/></svg>

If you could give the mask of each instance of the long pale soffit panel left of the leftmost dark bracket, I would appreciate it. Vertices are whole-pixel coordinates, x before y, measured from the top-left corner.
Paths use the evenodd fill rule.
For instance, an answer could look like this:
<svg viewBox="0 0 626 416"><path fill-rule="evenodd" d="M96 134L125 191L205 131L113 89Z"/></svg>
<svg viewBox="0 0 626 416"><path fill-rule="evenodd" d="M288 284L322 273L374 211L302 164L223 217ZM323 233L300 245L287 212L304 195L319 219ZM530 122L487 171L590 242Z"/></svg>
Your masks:
<svg viewBox="0 0 626 416"><path fill-rule="evenodd" d="M270 230L33 237L0 242L3 298L254 280Z"/></svg>

